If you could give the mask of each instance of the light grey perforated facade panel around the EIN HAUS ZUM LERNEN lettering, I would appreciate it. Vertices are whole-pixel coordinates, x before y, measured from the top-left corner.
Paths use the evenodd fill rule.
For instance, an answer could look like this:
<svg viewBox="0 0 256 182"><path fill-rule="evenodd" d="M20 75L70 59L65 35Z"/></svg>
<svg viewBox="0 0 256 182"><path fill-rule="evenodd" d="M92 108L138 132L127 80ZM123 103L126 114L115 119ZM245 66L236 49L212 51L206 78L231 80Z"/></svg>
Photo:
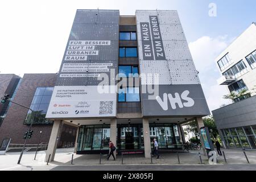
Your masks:
<svg viewBox="0 0 256 182"><path fill-rule="evenodd" d="M166 57L164 60L143 60L142 42L144 35L141 23L150 23L150 16L157 16L158 18L158 26L162 36L160 42L163 44ZM159 85L200 84L177 11L137 10L136 19L141 73L159 73ZM150 32L153 36L152 28L150 28ZM149 39L153 43L152 37ZM155 53L154 57L156 58ZM142 75L142 84L152 84L152 80L146 80Z"/></svg>

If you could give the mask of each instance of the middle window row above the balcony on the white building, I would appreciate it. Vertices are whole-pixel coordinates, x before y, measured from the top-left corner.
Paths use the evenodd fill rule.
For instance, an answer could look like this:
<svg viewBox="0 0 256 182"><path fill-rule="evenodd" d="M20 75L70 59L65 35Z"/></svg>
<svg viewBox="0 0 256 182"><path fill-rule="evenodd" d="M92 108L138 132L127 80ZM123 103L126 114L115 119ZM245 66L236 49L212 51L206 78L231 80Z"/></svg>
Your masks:
<svg viewBox="0 0 256 182"><path fill-rule="evenodd" d="M228 78L228 77L240 77L243 74L247 72L246 65L243 62L243 60L239 61L237 64L235 64L233 67L228 69L226 72L223 73L223 75Z"/></svg>

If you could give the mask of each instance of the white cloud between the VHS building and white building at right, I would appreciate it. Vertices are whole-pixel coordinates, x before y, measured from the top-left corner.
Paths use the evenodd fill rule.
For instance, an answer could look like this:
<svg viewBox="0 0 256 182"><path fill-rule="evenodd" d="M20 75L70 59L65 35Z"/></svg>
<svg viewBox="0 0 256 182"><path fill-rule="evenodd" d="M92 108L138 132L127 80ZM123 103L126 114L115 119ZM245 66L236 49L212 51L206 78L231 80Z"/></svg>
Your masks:
<svg viewBox="0 0 256 182"><path fill-rule="evenodd" d="M217 79L221 76L214 59L234 40L225 36L211 38L202 36L195 42L189 43L193 61L199 71L201 85L210 111L218 109L223 104L230 104L229 100L222 98L228 94L228 89L224 85L218 85Z"/></svg>

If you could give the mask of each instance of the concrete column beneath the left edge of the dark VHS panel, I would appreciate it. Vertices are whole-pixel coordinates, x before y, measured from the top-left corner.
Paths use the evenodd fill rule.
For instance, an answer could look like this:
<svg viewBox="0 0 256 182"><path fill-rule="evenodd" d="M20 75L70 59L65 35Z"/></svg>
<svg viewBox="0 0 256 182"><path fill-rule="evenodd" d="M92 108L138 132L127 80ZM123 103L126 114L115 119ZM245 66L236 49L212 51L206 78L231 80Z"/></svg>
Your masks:
<svg viewBox="0 0 256 182"><path fill-rule="evenodd" d="M151 143L150 143L150 128L148 123L148 118L142 118L143 125L143 139L144 139L144 153L145 158L150 158L151 153Z"/></svg>

